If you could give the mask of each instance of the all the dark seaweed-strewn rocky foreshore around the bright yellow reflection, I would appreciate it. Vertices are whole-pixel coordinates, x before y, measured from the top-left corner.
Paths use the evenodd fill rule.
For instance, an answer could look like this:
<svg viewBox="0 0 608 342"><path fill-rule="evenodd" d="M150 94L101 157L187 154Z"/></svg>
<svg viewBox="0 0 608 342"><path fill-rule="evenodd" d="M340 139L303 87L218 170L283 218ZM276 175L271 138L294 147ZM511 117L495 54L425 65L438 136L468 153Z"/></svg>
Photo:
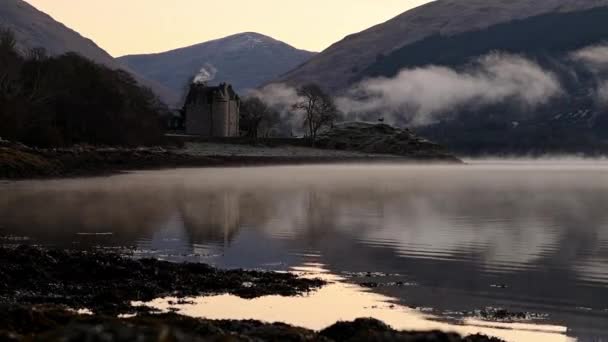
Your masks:
<svg viewBox="0 0 608 342"><path fill-rule="evenodd" d="M323 285L321 280L286 273L222 271L109 252L4 247L0 341L499 341L438 331L400 332L372 319L336 323L315 332L286 324L160 314L130 305L163 296L292 296ZM75 309L93 314L78 314ZM118 317L125 313L139 315Z"/></svg>

